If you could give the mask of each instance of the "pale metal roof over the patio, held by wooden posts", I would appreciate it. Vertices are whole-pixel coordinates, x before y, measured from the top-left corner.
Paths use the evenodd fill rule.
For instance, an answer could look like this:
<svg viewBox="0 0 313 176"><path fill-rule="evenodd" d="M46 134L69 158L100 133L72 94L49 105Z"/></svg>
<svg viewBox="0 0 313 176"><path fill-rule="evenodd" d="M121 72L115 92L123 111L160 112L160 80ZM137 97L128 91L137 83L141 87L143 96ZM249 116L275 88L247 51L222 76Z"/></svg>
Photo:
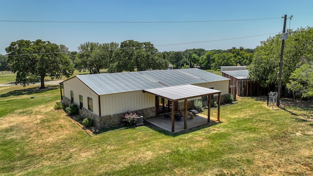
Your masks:
<svg viewBox="0 0 313 176"><path fill-rule="evenodd" d="M215 90L212 88L203 88L194 85L172 86L166 88L152 88L145 89L143 91L169 99L170 101L179 101L222 92L220 90Z"/></svg>

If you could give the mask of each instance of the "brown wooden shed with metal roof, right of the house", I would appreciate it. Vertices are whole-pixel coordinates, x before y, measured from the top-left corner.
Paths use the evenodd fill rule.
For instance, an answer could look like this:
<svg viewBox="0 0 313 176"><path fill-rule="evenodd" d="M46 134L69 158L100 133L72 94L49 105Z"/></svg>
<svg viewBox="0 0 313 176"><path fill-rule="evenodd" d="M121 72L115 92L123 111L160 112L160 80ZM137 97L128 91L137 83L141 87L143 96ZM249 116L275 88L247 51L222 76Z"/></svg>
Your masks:
<svg viewBox="0 0 313 176"><path fill-rule="evenodd" d="M250 81L249 70L222 71L222 76L229 78L230 89L235 88L236 95L239 96L266 96L271 90L270 87L263 88L260 84ZM232 90L231 90L232 92Z"/></svg>

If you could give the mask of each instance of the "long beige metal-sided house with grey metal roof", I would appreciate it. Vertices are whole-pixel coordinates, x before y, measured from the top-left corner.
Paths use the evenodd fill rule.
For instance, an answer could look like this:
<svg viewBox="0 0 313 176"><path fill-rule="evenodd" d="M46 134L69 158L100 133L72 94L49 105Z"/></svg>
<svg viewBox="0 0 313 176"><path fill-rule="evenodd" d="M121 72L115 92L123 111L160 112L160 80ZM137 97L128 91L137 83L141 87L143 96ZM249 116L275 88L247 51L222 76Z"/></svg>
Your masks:
<svg viewBox="0 0 313 176"><path fill-rule="evenodd" d="M188 68L77 75L60 87L64 104L77 104L83 117L93 119L96 128L105 128L122 124L128 110L145 119L186 109L187 104L189 109L195 99L224 101L229 79Z"/></svg>

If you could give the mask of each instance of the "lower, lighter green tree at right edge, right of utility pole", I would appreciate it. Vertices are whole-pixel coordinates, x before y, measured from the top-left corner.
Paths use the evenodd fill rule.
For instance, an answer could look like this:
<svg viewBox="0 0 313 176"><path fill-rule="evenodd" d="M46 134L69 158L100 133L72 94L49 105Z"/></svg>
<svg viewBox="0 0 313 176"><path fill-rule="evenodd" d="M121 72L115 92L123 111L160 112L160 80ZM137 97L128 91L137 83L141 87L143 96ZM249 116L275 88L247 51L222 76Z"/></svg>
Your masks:
<svg viewBox="0 0 313 176"><path fill-rule="evenodd" d="M291 73L290 83L286 86L293 92L300 90L301 98L313 97L313 64L304 64L296 68Z"/></svg>

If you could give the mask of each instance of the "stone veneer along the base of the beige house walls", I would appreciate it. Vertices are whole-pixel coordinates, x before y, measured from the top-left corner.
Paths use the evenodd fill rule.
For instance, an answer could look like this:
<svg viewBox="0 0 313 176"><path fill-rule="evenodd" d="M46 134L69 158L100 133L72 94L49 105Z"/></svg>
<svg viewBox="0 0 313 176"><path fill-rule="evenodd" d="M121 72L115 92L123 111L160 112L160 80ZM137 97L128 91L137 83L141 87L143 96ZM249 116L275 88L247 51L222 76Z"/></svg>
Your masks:
<svg viewBox="0 0 313 176"><path fill-rule="evenodd" d="M69 106L70 99L67 97L63 96L63 104ZM134 110L137 112L137 114L140 114L143 116L143 119L149 118L149 117L154 117L156 116L156 107L151 107L151 108L146 108L142 110ZM112 127L116 125L123 124L123 113L116 113L112 115L104 115L104 116L98 116L94 114L92 111L87 110L85 108L82 108L79 110L79 114L83 118L90 118L93 120L93 126L97 129L102 129L102 128L107 128L107 127Z"/></svg>

